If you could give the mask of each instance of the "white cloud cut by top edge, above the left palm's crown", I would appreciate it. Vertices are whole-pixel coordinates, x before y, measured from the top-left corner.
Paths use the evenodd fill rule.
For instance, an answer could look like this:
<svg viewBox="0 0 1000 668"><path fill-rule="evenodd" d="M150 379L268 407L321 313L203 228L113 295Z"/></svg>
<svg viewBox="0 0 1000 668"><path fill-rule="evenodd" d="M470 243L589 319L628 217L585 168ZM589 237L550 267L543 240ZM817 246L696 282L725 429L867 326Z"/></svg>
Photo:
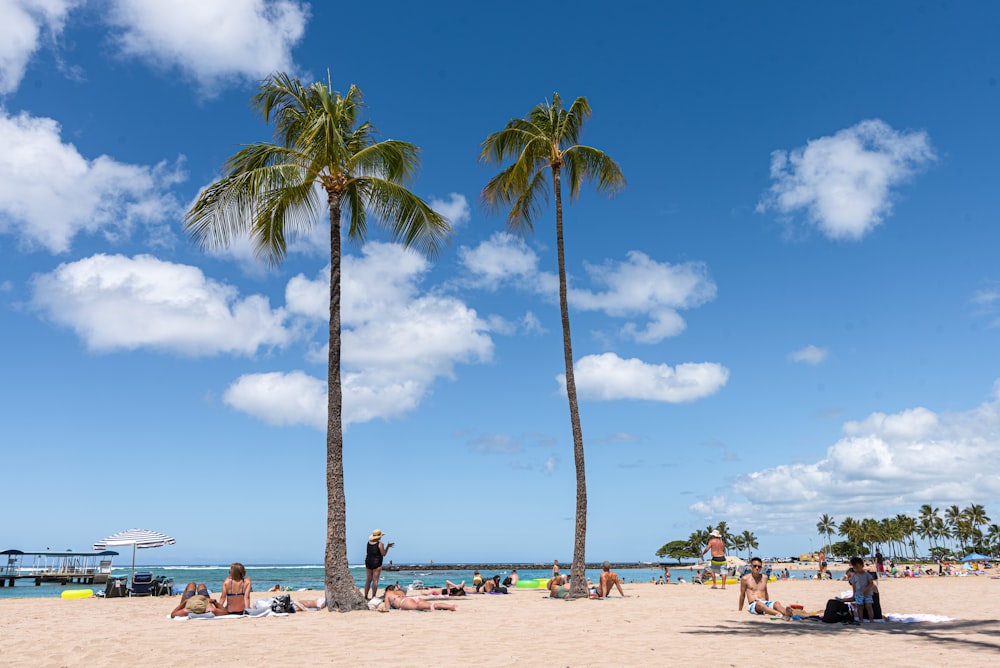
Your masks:
<svg viewBox="0 0 1000 668"><path fill-rule="evenodd" d="M309 6L295 0L113 0L122 53L177 67L210 92L229 78L294 71Z"/></svg>

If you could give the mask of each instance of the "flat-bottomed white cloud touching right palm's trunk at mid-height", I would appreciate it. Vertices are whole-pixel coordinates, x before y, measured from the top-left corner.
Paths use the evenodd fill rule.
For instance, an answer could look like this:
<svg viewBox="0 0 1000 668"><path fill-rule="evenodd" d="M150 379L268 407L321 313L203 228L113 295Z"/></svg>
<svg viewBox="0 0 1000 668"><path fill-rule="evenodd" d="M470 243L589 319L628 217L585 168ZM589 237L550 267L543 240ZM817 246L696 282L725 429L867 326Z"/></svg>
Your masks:
<svg viewBox="0 0 1000 668"><path fill-rule="evenodd" d="M588 355L573 367L581 399L648 399L668 403L695 401L715 394L729 380L729 369L712 362L647 364L614 353ZM556 378L565 391L566 376Z"/></svg>

